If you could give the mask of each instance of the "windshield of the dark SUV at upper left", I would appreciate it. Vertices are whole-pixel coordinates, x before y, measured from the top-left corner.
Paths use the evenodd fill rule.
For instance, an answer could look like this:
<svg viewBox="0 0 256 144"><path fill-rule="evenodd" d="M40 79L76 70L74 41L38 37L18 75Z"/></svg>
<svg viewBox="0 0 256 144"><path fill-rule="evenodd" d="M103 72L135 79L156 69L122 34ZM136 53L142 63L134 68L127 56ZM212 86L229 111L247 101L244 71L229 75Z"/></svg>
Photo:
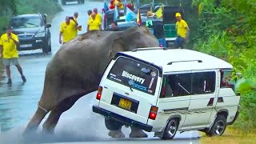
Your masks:
<svg viewBox="0 0 256 144"><path fill-rule="evenodd" d="M10 26L13 28L38 27L42 26L42 23L39 17L13 18Z"/></svg>

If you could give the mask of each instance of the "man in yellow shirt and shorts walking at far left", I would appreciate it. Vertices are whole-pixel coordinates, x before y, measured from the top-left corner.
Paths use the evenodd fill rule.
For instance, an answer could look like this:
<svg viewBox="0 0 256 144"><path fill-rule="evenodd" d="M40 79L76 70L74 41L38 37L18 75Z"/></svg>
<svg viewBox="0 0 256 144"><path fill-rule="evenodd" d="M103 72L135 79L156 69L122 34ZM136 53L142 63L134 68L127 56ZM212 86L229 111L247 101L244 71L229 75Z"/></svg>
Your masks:
<svg viewBox="0 0 256 144"><path fill-rule="evenodd" d="M2 34L0 38L0 58L3 58L3 65L6 66L7 84L11 84L10 62L17 67L19 74L22 76L22 81L26 82L22 66L18 63L18 44L18 36L12 33L11 27L7 27L6 34Z"/></svg>

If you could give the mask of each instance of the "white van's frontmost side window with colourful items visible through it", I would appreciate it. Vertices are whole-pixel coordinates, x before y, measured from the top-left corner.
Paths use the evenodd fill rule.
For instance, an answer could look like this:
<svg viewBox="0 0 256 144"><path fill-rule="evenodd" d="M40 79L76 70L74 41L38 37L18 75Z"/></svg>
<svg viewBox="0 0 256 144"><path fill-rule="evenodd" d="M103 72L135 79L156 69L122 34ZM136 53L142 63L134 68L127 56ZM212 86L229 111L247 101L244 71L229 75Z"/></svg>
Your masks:
<svg viewBox="0 0 256 144"><path fill-rule="evenodd" d="M232 70L221 71L221 88L232 88L234 90L234 82L232 82Z"/></svg>

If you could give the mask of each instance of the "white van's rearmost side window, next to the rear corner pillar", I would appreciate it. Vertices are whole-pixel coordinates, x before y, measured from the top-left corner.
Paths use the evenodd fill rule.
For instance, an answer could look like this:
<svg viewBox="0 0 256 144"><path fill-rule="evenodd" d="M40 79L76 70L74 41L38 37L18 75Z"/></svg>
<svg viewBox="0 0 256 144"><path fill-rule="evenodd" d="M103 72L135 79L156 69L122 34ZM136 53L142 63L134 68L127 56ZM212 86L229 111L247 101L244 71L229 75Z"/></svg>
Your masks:
<svg viewBox="0 0 256 144"><path fill-rule="evenodd" d="M163 77L160 98L191 94L191 74L170 74Z"/></svg>

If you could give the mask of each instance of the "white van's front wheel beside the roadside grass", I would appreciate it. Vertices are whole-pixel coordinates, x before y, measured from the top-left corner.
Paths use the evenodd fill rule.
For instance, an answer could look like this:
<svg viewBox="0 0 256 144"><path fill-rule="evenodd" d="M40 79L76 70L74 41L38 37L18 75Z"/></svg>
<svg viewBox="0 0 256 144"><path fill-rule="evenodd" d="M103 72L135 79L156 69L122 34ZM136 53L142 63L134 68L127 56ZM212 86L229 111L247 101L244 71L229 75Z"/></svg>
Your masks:
<svg viewBox="0 0 256 144"><path fill-rule="evenodd" d="M206 132L208 137L219 136L226 130L226 117L224 115L218 115L214 121L214 125L210 128L209 132Z"/></svg>

